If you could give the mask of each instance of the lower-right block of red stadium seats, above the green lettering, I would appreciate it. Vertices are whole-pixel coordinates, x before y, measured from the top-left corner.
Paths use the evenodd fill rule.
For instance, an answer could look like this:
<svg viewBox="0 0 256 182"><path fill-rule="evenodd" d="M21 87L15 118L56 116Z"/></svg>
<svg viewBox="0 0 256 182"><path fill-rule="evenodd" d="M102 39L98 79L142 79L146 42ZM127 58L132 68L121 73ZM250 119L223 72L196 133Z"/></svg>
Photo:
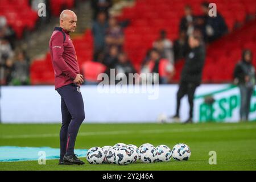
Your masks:
<svg viewBox="0 0 256 182"><path fill-rule="evenodd" d="M256 21L246 24L241 30L217 40L207 49L203 80L207 82L232 81L236 63L241 60L242 49L253 51L256 66Z"/></svg>

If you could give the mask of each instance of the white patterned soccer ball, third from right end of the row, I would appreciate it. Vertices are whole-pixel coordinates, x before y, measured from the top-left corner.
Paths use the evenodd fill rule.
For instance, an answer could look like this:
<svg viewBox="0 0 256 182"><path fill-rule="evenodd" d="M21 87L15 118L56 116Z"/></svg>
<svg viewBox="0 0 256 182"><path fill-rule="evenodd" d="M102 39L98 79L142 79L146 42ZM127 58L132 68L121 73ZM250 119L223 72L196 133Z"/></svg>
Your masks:
<svg viewBox="0 0 256 182"><path fill-rule="evenodd" d="M154 163L158 159L158 151L153 146L143 146L139 150L140 160L143 163Z"/></svg>

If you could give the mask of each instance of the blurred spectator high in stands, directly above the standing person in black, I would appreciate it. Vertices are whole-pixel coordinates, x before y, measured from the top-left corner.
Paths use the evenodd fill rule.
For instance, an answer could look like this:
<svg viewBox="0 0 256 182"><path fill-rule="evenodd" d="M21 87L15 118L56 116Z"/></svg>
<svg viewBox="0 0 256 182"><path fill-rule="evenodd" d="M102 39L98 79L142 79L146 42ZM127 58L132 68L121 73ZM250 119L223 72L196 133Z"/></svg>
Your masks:
<svg viewBox="0 0 256 182"><path fill-rule="evenodd" d="M192 35L194 30L194 23L195 23L195 15L193 15L193 11L191 6L186 5L184 7L184 13L185 15L180 20L180 32L185 31L186 34Z"/></svg>

